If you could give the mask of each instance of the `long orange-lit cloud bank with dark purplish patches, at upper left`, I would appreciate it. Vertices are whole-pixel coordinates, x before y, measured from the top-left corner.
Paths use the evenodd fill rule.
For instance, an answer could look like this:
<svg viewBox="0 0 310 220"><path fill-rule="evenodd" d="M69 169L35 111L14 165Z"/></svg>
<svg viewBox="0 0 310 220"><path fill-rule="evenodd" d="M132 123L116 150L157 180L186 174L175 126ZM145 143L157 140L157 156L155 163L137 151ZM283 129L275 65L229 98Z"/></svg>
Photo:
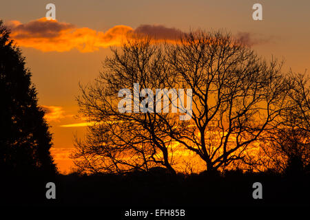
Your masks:
<svg viewBox="0 0 310 220"><path fill-rule="evenodd" d="M6 23L11 30L11 37L22 47L33 47L43 52L94 52L100 48L120 45L132 34L148 34L155 39L174 40L182 32L176 28L166 28L163 25L141 25L135 30L125 25L116 25L106 32L90 28L76 28L70 23L47 20L45 18L20 23Z"/></svg>

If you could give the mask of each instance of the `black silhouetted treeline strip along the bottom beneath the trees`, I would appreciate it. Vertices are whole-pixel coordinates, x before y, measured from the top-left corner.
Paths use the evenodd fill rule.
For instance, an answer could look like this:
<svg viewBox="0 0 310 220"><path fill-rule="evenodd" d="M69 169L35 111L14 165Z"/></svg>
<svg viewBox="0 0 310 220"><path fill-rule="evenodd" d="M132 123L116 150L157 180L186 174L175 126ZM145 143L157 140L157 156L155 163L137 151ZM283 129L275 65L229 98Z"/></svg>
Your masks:
<svg viewBox="0 0 310 220"><path fill-rule="evenodd" d="M2 179L2 178L1 178ZM14 181L12 181L14 180ZM54 181L56 199L46 199L45 184ZM262 199L252 197L254 182L262 184ZM309 206L310 176L278 173L204 172L171 175L165 170L124 175L57 175L13 177L1 181L6 204L39 206L209 207Z"/></svg>

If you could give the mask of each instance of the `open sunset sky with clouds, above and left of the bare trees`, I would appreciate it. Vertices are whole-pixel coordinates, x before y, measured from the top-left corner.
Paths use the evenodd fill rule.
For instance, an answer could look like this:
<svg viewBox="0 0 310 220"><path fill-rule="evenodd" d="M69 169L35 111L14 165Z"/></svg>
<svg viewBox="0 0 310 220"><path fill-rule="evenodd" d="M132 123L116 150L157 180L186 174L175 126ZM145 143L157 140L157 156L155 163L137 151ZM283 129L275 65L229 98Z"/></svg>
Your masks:
<svg viewBox="0 0 310 220"><path fill-rule="evenodd" d="M56 21L45 19L48 3L56 5ZM262 21L252 19L254 3L262 4ZM11 0L1 2L0 15L31 69L62 173L72 166L74 134L83 138L87 125L76 118L79 83L92 83L110 46L117 47L127 34L174 39L190 29L223 29L265 58L284 58L284 71L310 69L309 0Z"/></svg>

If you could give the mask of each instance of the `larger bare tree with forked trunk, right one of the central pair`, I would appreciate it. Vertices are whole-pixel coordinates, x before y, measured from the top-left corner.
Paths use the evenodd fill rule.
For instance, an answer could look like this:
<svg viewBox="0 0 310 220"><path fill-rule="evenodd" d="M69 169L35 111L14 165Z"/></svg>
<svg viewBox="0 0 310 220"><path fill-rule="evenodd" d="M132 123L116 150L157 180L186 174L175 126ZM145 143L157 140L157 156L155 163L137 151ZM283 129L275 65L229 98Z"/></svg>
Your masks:
<svg viewBox="0 0 310 220"><path fill-rule="evenodd" d="M190 32L167 50L180 87L192 89L193 113L191 124L165 132L199 155L207 170L246 161L282 109L282 63L267 63L223 32Z"/></svg>

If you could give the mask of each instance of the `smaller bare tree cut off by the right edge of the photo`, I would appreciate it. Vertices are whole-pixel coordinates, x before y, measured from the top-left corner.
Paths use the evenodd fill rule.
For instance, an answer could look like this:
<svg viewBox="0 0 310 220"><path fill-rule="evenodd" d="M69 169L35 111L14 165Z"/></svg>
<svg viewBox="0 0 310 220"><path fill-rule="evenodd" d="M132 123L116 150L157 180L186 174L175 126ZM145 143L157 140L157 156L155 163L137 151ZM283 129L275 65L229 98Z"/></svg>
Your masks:
<svg viewBox="0 0 310 220"><path fill-rule="evenodd" d="M287 96L279 126L268 132L262 144L267 168L302 173L310 166L310 81L307 74L287 75Z"/></svg>

